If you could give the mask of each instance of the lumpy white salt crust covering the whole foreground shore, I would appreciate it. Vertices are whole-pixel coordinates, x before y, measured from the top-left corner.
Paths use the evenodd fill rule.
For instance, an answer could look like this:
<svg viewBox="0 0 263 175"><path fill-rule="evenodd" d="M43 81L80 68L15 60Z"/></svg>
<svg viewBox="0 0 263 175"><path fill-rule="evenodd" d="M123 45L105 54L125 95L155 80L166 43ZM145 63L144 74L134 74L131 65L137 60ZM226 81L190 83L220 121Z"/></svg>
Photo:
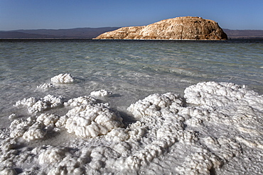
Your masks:
<svg viewBox="0 0 263 175"><path fill-rule="evenodd" d="M184 96L151 94L129 106L135 119L125 125L90 96L31 97L16 106L28 108L28 118L11 114L0 132L1 174L242 174L237 164L263 173L263 96L245 86L210 81ZM65 133L74 139L64 146L26 146Z"/></svg>

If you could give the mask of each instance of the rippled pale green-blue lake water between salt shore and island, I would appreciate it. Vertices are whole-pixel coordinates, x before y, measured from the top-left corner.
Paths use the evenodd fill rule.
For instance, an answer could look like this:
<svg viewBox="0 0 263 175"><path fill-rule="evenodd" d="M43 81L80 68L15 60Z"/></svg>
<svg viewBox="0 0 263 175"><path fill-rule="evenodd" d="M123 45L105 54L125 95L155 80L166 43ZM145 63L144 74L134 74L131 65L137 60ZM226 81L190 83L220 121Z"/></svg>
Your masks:
<svg viewBox="0 0 263 175"><path fill-rule="evenodd" d="M181 94L199 81L245 84L262 93L262 45L262 40L1 42L1 98L6 98L1 110L17 99L40 96L35 87L60 73L79 82L74 91L56 93L72 97L108 89L132 98L128 105L154 92Z"/></svg>

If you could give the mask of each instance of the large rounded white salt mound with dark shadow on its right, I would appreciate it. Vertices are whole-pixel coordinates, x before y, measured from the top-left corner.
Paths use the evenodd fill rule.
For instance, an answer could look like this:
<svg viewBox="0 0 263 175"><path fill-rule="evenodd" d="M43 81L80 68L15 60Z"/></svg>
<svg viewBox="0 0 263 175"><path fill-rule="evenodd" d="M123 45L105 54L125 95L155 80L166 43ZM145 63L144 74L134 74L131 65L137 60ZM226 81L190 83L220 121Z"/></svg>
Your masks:
<svg viewBox="0 0 263 175"><path fill-rule="evenodd" d="M68 111L67 115L65 128L80 137L106 135L112 129L123 126L122 118L104 106L79 106Z"/></svg>

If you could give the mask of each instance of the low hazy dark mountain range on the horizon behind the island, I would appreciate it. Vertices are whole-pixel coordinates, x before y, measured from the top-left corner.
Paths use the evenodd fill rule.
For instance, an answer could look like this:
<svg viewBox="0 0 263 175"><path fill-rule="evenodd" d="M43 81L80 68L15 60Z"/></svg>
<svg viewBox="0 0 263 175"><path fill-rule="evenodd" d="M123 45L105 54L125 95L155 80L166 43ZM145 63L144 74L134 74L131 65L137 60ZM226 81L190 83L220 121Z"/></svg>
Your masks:
<svg viewBox="0 0 263 175"><path fill-rule="evenodd" d="M0 30L0 39L92 39L98 35L117 30L119 27L72 28L72 29L38 29L38 30ZM263 30L223 29L229 39L262 38Z"/></svg>

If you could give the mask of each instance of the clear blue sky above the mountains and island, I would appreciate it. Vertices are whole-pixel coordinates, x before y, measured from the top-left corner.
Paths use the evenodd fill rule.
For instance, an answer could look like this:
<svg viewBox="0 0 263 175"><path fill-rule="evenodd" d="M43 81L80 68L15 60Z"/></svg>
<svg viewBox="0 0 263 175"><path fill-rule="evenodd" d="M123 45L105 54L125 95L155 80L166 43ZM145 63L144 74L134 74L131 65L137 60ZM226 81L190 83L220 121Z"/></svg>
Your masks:
<svg viewBox="0 0 263 175"><path fill-rule="evenodd" d="M0 30L144 26L178 16L263 30L263 0L0 0Z"/></svg>

